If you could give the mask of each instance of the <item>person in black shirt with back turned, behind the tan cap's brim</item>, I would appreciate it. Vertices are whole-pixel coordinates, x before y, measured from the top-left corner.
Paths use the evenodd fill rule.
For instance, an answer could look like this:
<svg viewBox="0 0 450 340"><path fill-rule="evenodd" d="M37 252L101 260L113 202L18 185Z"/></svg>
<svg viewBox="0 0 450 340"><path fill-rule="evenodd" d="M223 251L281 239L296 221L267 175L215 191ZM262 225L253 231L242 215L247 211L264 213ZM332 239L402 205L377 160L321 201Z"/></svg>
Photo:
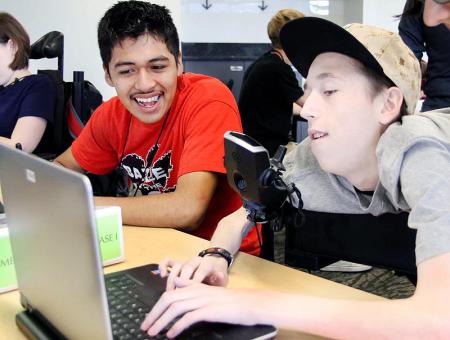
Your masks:
<svg viewBox="0 0 450 340"><path fill-rule="evenodd" d="M292 114L300 111L303 91L291 63L281 48L284 24L304 14L294 9L278 11L267 25L272 50L259 57L245 72L239 95L244 133L261 143L271 156L289 142Z"/></svg>

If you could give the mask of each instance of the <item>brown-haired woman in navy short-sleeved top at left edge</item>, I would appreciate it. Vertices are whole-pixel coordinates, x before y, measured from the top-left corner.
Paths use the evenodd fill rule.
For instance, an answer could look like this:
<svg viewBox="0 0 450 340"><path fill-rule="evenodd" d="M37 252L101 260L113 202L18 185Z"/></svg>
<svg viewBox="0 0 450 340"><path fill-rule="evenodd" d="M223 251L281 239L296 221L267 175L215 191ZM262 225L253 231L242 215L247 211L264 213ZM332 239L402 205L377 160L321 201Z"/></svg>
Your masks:
<svg viewBox="0 0 450 340"><path fill-rule="evenodd" d="M31 74L29 56L27 32L0 12L0 143L33 152L53 122L56 89L47 76Z"/></svg>

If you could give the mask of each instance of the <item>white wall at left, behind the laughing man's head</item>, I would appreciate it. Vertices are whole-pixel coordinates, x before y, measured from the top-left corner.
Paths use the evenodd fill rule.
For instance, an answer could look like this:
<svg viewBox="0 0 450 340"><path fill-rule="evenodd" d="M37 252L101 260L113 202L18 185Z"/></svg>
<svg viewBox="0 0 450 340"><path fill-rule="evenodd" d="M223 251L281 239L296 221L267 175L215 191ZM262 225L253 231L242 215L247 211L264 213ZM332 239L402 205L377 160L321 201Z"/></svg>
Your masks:
<svg viewBox="0 0 450 340"><path fill-rule="evenodd" d="M172 12L175 25L180 25L180 0L153 1ZM64 33L64 80L71 81L73 71L84 71L104 99L115 95L103 76L97 45L97 24L116 0L0 0L0 11L16 17L27 30L32 42L50 31ZM30 69L57 68L55 60L30 62Z"/></svg>

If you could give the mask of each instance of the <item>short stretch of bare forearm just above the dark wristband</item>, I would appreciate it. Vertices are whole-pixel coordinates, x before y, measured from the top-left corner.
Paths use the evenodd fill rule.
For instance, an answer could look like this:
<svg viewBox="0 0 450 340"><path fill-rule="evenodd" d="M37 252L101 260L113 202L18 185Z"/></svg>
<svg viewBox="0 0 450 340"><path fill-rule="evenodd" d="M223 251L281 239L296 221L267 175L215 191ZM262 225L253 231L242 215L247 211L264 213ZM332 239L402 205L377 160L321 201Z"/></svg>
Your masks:
<svg viewBox="0 0 450 340"><path fill-rule="evenodd" d="M224 217L218 224L211 238L211 247L220 247L231 254L237 253L241 246L244 234L244 225L247 222L247 214L244 208L239 208L234 213Z"/></svg>

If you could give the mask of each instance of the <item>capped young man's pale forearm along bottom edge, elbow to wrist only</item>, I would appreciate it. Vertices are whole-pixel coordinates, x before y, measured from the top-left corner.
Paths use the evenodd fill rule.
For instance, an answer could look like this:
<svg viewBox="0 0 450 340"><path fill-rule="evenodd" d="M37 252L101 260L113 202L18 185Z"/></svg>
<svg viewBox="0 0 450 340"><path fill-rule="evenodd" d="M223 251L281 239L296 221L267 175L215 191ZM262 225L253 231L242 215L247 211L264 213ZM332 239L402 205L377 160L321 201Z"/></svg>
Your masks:
<svg viewBox="0 0 450 340"><path fill-rule="evenodd" d="M329 338L448 338L445 311L414 299L351 301L264 293L261 323ZM432 312L431 312L432 311Z"/></svg>

